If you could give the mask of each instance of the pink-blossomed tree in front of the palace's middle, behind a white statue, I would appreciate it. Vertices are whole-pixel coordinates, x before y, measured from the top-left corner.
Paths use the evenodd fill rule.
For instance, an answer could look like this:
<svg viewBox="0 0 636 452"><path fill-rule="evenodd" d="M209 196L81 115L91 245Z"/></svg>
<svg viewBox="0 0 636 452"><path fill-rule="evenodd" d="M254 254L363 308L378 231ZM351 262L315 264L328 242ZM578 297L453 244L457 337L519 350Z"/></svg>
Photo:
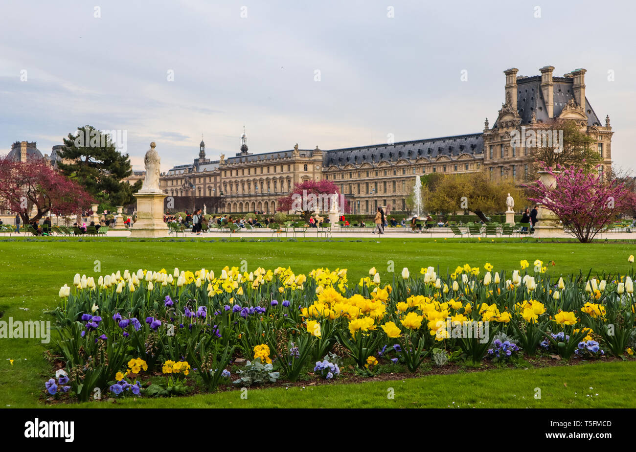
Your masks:
<svg viewBox="0 0 636 452"><path fill-rule="evenodd" d="M289 195L279 198L277 210L279 212L301 212L305 221L309 221L312 214L318 210L331 209L333 203L332 196L338 195L338 212L349 213L349 203L340 194L338 186L331 181L305 181L294 185L294 189Z"/></svg>

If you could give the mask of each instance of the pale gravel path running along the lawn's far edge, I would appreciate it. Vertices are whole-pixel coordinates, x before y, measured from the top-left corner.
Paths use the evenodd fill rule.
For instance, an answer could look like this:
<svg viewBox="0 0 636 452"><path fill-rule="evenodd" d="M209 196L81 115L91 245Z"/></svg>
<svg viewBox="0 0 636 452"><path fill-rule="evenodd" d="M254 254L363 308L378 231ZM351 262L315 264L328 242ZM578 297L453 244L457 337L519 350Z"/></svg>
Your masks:
<svg viewBox="0 0 636 452"><path fill-rule="evenodd" d="M214 230L212 232L206 232L206 233L201 233L201 235L196 235L193 234L191 232L185 232L183 235L179 234L178 236L176 236L177 238L221 238L221 237L225 237L225 238L230 238L230 237L234 237L234 238L271 238L272 236L279 236L280 238L292 238L292 237L305 237L305 238L325 238L325 236L327 238L378 238L378 240L382 240L382 238L389 238L389 237L394 237L394 238L453 238L453 237L457 237L459 238L459 236L455 236L453 235L452 231L450 231L450 229L448 228L432 228L432 229L428 229L425 231L422 231L421 233L411 233L408 231L408 229L404 229L404 228L386 228L385 229L385 233L383 235L378 235L378 234L373 234L370 231L352 231L352 230L347 230L348 228L338 228L338 229L333 229L333 231L331 231L331 234L327 234L325 235L324 233L321 233L319 231L317 231L317 229L315 228L308 228L306 233L296 233L294 234L292 231L289 231L288 233L282 233L280 235L272 235L272 231L270 229L266 229L266 228L259 228L259 229L255 229L254 231L251 232L237 232L237 233L228 233L228 232L219 232L217 230ZM6 237L24 237L24 236L30 236L30 235L25 235L24 233L20 233L20 234L16 234L16 233L7 233L4 236ZM128 229L109 229L109 231L107 232L108 237L128 237L130 236L130 231ZM85 238L89 238L91 236L85 236ZM171 235L167 229L165 231L165 236L164 237L173 237L173 235ZM464 238L468 238L468 235L464 235ZM527 238L527 235L521 235L521 238ZM506 238L511 238L511 240L514 240L516 238L520 238L519 236L513 236L513 237L509 237L506 236ZM532 235L530 235L530 237L532 237ZM476 238L476 237L474 237ZM495 238L494 236L482 236L481 240L490 240L492 238ZM565 233L562 233L558 236L558 238L572 238L572 236L567 235ZM598 235L597 239L601 239L601 240L605 240L605 239L609 239L609 240L636 240L636 234L628 234L628 233L619 233L619 232L612 232L612 233L605 233L602 235Z"/></svg>

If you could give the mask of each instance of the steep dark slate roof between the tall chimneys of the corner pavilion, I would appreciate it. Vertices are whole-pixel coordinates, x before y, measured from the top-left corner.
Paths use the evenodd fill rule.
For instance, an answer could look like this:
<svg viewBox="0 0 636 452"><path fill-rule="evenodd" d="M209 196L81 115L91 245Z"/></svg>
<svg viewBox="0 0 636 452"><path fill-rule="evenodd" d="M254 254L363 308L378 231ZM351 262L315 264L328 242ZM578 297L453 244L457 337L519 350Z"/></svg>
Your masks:
<svg viewBox="0 0 636 452"><path fill-rule="evenodd" d="M554 83L554 118L558 118L563 108L570 99L574 98L572 85L574 79L569 77L553 77ZM546 109L546 101L543 99L543 91L541 90L541 76L517 78L517 111L522 117L522 125L529 124L532 118L532 112L537 114L537 121L543 120L547 123L548 111ZM588 111L590 113L588 113ZM598 116L594 113L588 99L585 99L585 114L588 116L588 125L601 125ZM496 121L493 127L497 125Z"/></svg>

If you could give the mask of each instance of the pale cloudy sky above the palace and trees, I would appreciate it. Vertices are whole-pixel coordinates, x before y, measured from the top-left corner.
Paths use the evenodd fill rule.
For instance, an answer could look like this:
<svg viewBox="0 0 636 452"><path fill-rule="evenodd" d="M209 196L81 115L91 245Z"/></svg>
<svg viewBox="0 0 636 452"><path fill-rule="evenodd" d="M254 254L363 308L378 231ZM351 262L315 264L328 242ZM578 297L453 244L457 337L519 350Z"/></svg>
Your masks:
<svg viewBox="0 0 636 452"><path fill-rule="evenodd" d="M239 152L481 132L503 71L587 69L586 96L636 169L636 2L0 0L0 154L121 130L133 168ZM122 132L123 133L123 132ZM391 134L391 135L389 135Z"/></svg>

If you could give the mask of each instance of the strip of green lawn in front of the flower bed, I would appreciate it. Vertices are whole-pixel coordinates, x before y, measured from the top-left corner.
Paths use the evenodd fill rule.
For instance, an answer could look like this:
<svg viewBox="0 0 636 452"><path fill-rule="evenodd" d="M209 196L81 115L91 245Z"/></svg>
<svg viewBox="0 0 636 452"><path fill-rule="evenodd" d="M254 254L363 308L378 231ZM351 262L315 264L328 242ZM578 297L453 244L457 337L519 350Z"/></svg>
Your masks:
<svg viewBox="0 0 636 452"><path fill-rule="evenodd" d="M496 369L406 380L266 388L166 399L121 399L74 407L163 408L628 408L636 406L636 361L541 369ZM591 387L591 389L590 389ZM541 390L541 399L535 399ZM391 391L392 389L392 391ZM389 394L394 394L389 399ZM598 394L598 395L597 395ZM590 397L588 397L588 395Z"/></svg>

